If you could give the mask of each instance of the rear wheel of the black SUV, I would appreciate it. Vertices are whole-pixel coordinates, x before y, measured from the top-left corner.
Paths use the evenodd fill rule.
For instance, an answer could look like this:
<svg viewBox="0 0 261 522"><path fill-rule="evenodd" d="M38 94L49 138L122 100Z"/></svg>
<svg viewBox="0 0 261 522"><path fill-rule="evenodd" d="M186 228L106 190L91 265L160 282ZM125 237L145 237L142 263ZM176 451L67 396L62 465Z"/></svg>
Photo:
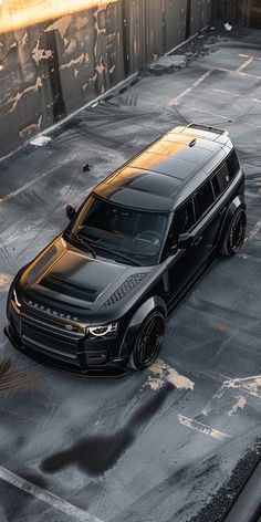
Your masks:
<svg viewBox="0 0 261 522"><path fill-rule="evenodd" d="M223 255L234 255L243 243L247 228L247 215L243 208L234 212L225 236L221 253Z"/></svg>

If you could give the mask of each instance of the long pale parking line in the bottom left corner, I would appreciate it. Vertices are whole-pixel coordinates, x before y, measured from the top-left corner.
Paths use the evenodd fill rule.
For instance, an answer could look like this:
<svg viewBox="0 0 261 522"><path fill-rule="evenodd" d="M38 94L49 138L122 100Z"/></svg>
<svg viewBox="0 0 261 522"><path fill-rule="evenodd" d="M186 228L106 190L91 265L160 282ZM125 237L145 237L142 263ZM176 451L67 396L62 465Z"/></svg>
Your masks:
<svg viewBox="0 0 261 522"><path fill-rule="evenodd" d="M103 522L101 519L97 519L87 511L76 508L76 505L70 504L70 502L66 502L66 500L60 499L60 497L56 497L50 491L22 479L2 466L0 466L0 479L4 480L4 482L8 482L9 484L15 486L15 488L19 488L25 493L31 494L35 499L45 502L45 504L51 505L53 509L70 516L74 516L75 520L83 522Z"/></svg>

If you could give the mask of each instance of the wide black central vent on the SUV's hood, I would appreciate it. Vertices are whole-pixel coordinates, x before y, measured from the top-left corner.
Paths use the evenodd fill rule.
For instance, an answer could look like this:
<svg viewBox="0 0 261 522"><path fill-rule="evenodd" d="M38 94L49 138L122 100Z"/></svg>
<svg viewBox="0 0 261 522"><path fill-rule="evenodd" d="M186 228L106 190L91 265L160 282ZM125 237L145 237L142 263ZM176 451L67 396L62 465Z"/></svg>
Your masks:
<svg viewBox="0 0 261 522"><path fill-rule="evenodd" d="M82 284L80 285L75 282L64 280L54 274L48 275L43 281L41 281L41 285L52 290L53 292L81 299L88 303L94 303L97 296L96 290L86 289Z"/></svg>

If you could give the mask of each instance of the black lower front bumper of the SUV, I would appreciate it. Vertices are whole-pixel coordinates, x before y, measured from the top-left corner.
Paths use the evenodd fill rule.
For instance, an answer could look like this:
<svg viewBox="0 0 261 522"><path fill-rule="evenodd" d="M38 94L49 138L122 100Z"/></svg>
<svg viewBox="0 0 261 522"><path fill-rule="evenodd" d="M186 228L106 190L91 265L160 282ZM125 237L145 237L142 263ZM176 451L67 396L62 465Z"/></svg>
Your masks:
<svg viewBox="0 0 261 522"><path fill-rule="evenodd" d="M97 352L93 349L94 346L91 346L91 349L83 349L83 341L76 342L74 346L69 344L69 341L63 336L59 338L56 333L56 337L50 342L49 334L52 332L49 332L48 324L44 324L43 330L40 322L39 330L34 331L33 335L30 330L24 330L22 333L18 315L12 310L9 312L9 324L4 328L4 333L12 345L29 357L55 369L84 377L123 377L127 374L126 357L113 357L112 351L106 349L104 351L107 354L105 363L95 364L96 354L102 356L103 347ZM27 328L30 328L30 324Z"/></svg>

